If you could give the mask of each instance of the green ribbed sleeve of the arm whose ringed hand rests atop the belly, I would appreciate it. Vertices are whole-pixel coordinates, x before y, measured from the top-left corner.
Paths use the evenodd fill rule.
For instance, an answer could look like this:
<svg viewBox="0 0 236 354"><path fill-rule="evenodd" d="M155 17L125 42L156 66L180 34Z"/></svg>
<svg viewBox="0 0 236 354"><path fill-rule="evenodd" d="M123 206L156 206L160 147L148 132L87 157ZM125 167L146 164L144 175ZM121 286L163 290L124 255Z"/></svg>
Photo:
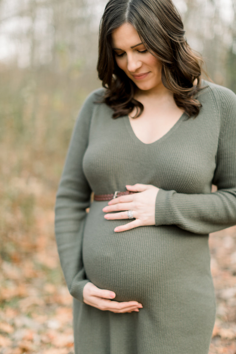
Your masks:
<svg viewBox="0 0 236 354"><path fill-rule="evenodd" d="M156 197L156 225L177 225L208 234L236 224L236 95L214 90L221 128L212 183L217 192L184 194L160 189ZM197 119L197 118L196 118Z"/></svg>

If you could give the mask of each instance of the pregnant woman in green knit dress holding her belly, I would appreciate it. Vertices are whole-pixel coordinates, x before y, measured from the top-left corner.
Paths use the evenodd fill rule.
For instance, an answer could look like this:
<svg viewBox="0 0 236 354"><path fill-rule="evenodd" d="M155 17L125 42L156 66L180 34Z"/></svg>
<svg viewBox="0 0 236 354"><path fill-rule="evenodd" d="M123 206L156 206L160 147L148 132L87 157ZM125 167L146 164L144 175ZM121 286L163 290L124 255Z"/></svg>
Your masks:
<svg viewBox="0 0 236 354"><path fill-rule="evenodd" d="M97 68L56 201L75 353L207 354L208 234L236 224L236 96L201 79L171 0L110 0Z"/></svg>

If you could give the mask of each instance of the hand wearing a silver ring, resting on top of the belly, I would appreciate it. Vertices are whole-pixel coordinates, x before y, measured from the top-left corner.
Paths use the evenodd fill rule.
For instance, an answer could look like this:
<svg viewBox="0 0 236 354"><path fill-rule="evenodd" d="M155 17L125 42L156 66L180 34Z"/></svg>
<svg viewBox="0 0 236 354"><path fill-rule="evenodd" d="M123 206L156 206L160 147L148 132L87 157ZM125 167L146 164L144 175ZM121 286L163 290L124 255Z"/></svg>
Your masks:
<svg viewBox="0 0 236 354"><path fill-rule="evenodd" d="M155 202L159 188L151 184L126 185L134 194L122 195L108 202L103 208L105 213L117 211L117 213L106 214L107 220L128 219L128 210L132 210L134 221L115 228L115 232L126 231L138 226L155 225ZM123 210L123 211L121 211Z"/></svg>

